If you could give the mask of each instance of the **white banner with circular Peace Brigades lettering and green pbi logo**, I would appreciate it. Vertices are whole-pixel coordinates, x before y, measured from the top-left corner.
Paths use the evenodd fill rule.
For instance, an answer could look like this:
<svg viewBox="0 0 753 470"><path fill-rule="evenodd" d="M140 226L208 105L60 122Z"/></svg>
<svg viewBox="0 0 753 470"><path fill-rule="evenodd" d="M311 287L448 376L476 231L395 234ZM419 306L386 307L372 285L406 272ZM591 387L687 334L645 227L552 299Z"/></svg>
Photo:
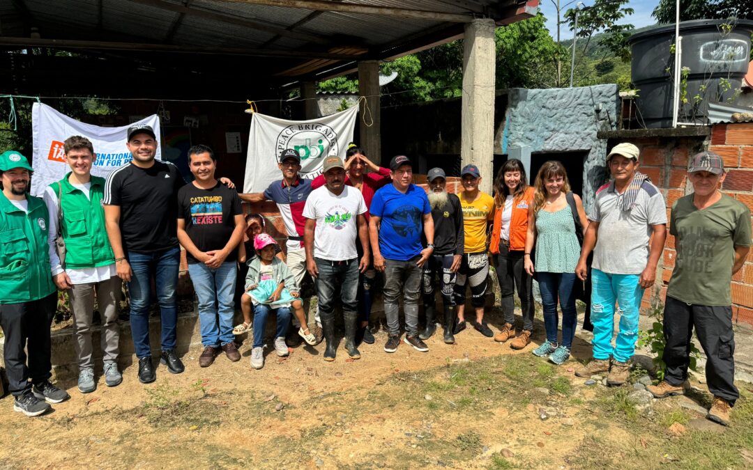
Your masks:
<svg viewBox="0 0 753 470"><path fill-rule="evenodd" d="M272 181L282 178L277 164L286 148L300 154L301 177L315 178L322 174L325 156L337 155L344 160L353 140L357 116L358 106L307 121L254 113L248 132L243 192L262 193Z"/></svg>

